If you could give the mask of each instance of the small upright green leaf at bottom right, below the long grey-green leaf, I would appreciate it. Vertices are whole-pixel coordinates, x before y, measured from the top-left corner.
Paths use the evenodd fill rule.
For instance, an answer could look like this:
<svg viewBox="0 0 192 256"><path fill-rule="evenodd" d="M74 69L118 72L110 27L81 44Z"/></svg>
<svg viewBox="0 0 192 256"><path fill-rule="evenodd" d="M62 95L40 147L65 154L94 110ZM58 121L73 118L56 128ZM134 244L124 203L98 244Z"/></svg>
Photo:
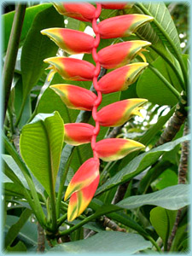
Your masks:
<svg viewBox="0 0 192 256"><path fill-rule="evenodd" d="M162 238L164 245L171 234L177 211L166 210L161 207L154 207L150 212L150 222L154 230Z"/></svg>

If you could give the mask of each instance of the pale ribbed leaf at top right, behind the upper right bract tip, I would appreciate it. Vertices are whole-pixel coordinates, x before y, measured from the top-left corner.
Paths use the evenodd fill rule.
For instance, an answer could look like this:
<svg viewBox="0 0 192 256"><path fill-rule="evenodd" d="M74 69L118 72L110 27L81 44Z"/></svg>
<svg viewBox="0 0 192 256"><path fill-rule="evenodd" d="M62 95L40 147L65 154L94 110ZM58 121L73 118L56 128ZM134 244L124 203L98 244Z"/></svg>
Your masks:
<svg viewBox="0 0 192 256"><path fill-rule="evenodd" d="M179 54L181 54L177 29L169 10L166 8L166 4L163 2L138 3L138 7L142 9L145 15L154 17L154 21L151 22L151 26L154 27L155 32L166 47L170 49L173 54L175 53L175 49Z"/></svg>

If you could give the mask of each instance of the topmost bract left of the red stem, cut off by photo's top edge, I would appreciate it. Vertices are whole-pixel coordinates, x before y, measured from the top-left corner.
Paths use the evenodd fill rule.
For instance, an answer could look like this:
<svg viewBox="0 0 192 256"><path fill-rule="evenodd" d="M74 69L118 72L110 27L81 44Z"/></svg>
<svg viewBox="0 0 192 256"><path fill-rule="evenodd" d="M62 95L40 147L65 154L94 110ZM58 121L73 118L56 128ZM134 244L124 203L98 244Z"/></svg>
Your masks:
<svg viewBox="0 0 192 256"><path fill-rule="evenodd" d="M96 12L90 3L54 3L54 6L61 15L82 21L91 21Z"/></svg>

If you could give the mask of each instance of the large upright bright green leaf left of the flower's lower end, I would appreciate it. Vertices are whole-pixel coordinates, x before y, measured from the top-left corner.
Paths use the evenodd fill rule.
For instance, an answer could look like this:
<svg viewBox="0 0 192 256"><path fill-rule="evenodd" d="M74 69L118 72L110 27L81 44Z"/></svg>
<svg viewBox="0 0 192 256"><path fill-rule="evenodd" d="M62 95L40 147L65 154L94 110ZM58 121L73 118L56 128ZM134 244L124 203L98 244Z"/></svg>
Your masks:
<svg viewBox="0 0 192 256"><path fill-rule="evenodd" d="M55 191L63 138L64 125L57 112L39 113L21 131L20 154L49 195Z"/></svg>

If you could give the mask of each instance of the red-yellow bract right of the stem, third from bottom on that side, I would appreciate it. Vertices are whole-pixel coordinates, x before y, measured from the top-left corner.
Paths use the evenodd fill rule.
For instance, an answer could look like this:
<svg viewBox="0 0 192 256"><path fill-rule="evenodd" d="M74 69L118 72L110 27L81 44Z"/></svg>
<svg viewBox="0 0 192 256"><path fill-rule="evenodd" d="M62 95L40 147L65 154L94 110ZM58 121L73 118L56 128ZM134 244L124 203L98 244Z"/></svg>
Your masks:
<svg viewBox="0 0 192 256"><path fill-rule="evenodd" d="M98 81L99 90L102 93L111 93L119 90L126 90L133 84L148 63L135 62L124 67L119 67L107 73Z"/></svg>

